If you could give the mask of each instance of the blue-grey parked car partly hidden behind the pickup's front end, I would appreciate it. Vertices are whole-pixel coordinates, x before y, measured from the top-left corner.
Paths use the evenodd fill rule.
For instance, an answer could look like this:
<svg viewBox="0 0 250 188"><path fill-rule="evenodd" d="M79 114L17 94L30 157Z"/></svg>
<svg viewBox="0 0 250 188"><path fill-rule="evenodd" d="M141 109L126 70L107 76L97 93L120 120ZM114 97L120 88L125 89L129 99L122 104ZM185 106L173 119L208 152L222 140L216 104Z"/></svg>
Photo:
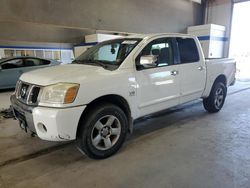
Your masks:
<svg viewBox="0 0 250 188"><path fill-rule="evenodd" d="M14 88L22 73L59 65L56 60L37 57L12 57L0 59L0 89Z"/></svg>

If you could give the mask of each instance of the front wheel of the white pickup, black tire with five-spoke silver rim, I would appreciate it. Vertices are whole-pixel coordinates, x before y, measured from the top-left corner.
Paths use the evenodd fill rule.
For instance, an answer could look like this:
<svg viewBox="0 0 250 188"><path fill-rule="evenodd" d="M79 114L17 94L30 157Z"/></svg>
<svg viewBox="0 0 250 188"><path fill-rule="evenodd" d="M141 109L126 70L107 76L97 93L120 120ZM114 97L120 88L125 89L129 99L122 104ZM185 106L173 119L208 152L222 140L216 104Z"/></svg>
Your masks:
<svg viewBox="0 0 250 188"><path fill-rule="evenodd" d="M115 154L124 143L128 131L125 113L118 106L105 103L91 109L84 117L79 124L77 147L93 159L104 159Z"/></svg>

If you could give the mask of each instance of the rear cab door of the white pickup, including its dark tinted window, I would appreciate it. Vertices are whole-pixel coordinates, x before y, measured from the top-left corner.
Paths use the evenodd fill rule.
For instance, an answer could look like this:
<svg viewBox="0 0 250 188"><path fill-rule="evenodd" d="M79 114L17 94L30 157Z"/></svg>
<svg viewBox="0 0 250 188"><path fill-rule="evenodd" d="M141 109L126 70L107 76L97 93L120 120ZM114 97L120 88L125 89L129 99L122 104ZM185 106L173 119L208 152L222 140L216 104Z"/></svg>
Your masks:
<svg viewBox="0 0 250 188"><path fill-rule="evenodd" d="M181 79L180 103L198 99L206 84L206 66L193 38L176 38Z"/></svg>

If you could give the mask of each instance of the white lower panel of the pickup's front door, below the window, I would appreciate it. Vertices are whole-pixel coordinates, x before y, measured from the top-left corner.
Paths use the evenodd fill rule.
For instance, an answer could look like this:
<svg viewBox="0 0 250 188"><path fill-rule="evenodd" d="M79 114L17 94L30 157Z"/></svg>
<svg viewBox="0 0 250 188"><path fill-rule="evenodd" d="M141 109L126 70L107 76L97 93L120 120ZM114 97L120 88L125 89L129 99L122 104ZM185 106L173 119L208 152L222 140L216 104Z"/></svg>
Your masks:
<svg viewBox="0 0 250 188"><path fill-rule="evenodd" d="M178 65L138 71L136 80L139 116L160 111L180 102L180 77L171 75Z"/></svg>

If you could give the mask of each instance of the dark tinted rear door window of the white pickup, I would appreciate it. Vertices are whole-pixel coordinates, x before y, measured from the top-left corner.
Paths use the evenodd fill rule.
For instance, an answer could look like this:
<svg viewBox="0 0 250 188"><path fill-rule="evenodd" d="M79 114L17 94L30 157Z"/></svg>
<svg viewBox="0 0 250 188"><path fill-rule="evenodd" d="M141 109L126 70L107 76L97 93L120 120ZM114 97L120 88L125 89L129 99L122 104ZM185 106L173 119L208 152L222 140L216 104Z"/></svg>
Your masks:
<svg viewBox="0 0 250 188"><path fill-rule="evenodd" d="M181 63L193 63L200 60L199 52L192 38L177 38Z"/></svg>

